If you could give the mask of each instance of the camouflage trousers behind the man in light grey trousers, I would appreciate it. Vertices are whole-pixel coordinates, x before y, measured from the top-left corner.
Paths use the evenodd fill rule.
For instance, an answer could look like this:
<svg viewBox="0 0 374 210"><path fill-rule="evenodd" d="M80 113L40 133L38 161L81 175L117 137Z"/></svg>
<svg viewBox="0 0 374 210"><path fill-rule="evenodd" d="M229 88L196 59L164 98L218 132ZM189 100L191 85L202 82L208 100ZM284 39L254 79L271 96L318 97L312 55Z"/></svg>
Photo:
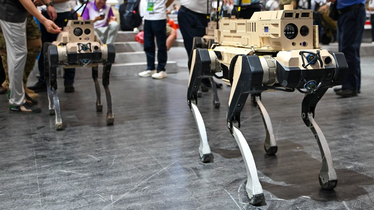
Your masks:
<svg viewBox="0 0 374 210"><path fill-rule="evenodd" d="M36 24L33 16L28 16L26 21L26 37L27 37L27 61L25 65L25 71L23 76L23 84L26 86L27 77L33 71L36 58L42 49L42 34L40 33L39 27ZM3 31L0 28L0 56L3 61L3 67L5 71L5 81L1 86L9 90L9 76L7 68L7 57L6 57L6 44Z"/></svg>

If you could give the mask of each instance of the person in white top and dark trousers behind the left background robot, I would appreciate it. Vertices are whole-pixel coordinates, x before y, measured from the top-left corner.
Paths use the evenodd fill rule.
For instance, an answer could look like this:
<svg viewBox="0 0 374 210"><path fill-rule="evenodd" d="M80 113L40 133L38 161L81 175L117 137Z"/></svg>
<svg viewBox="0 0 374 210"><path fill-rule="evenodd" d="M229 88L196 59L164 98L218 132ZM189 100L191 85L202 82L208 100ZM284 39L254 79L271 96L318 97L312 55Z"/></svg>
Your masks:
<svg viewBox="0 0 374 210"><path fill-rule="evenodd" d="M42 0L34 0L36 6L43 6ZM71 4L70 0L50 0L50 6L53 6L56 9L57 17L53 20L58 27L65 27L67 25L67 19L71 19ZM42 10L42 15L48 18L48 11ZM57 39L57 34L49 33L43 25L40 25L40 31L42 32L42 43L46 42L53 42ZM39 81L31 87L28 87L30 90L34 92L43 92L47 91L47 83L45 80L45 72L44 72L44 56L40 56L39 61ZM74 92L74 77L75 77L75 68L65 68L64 69L64 86L65 92L71 93Z"/></svg>

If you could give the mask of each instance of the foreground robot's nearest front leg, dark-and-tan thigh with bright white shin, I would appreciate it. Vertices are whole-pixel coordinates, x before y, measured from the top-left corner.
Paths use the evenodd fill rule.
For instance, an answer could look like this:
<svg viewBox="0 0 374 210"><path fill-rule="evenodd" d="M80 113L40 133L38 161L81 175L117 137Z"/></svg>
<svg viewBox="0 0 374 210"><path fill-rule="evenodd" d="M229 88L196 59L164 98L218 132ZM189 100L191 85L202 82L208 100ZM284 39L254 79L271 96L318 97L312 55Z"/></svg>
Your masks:
<svg viewBox="0 0 374 210"><path fill-rule="evenodd" d="M258 61L258 62L257 62ZM251 65L249 63L251 62ZM232 64L235 65L235 64ZM258 67L258 68L257 68ZM261 71L261 72L260 72ZM258 180L256 165L242 133L233 126L238 123L240 128L240 112L248 98L249 93L260 93L256 86L262 83L262 67L258 56L239 56L233 72L233 82L230 93L229 108L227 110L227 127L234 136L240 148L247 170L248 181L246 193L251 204L259 204L264 200L263 189ZM259 84L257 84L260 81Z"/></svg>

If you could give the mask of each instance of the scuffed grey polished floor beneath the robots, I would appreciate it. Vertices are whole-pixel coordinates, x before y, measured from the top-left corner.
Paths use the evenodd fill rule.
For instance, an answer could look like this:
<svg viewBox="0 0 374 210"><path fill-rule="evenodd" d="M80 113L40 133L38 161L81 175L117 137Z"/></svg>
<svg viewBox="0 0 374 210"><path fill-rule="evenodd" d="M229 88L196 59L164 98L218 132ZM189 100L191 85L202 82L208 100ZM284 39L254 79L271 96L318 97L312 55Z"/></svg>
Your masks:
<svg viewBox="0 0 374 210"><path fill-rule="evenodd" d="M43 112L32 115L9 114L2 95L0 209L373 210L373 60L362 59L358 97L342 99L328 90L316 108L338 176L335 190L319 186L321 155L300 117L303 95L266 93L262 101L278 140L276 155L264 152L257 108L247 102L242 112L241 130L266 197L260 206L249 205L243 159L226 128L230 89L219 90L220 109L213 108L210 92L199 99L214 155L212 163L201 163L183 68L163 80L111 78L113 126L106 126L105 108L95 111L89 76L76 81L74 93L58 90L65 126L59 132L46 93L39 98Z"/></svg>

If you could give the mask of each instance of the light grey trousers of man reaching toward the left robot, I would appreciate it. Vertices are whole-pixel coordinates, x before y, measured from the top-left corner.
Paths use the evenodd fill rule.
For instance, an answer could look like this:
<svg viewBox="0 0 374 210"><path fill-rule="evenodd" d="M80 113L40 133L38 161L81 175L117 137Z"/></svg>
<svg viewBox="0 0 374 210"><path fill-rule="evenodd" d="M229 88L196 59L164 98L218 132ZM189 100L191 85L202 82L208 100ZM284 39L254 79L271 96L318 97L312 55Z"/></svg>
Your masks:
<svg viewBox="0 0 374 210"><path fill-rule="evenodd" d="M9 104L20 106L25 104L23 75L27 58L26 19L22 23L0 20L6 42L6 54L9 74Z"/></svg>

